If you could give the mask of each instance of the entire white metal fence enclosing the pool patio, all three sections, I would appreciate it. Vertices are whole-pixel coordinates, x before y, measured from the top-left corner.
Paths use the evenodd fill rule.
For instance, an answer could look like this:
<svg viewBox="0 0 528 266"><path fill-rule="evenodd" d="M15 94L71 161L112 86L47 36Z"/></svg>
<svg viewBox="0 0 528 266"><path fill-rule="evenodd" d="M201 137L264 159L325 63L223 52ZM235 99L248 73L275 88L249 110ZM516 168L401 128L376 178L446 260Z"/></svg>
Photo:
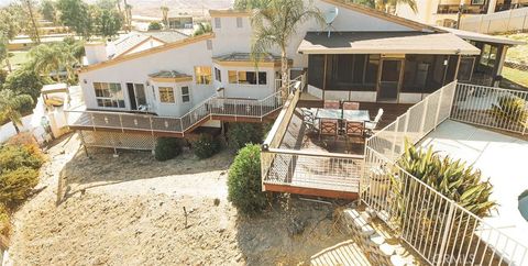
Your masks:
<svg viewBox="0 0 528 266"><path fill-rule="evenodd" d="M472 115L459 114L480 107L488 110L491 103L504 95L525 99L526 107L526 95L521 92L453 82L367 140L360 182L362 201L431 265L528 264L528 248L524 243L493 228L396 164L404 152L405 138L416 144L450 114L471 122ZM476 96L495 100L470 98ZM480 124L491 126L487 122ZM508 130L508 123L499 124Z"/></svg>

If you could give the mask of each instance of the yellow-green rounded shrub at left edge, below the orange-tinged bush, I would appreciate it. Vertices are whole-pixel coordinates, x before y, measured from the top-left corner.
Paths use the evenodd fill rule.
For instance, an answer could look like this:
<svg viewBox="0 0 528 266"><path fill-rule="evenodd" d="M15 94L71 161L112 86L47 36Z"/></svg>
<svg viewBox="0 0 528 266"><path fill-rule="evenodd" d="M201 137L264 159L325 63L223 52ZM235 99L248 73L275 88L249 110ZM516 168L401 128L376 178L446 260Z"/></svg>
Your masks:
<svg viewBox="0 0 528 266"><path fill-rule="evenodd" d="M22 202L38 184L38 170L21 167L0 175L0 202L14 206Z"/></svg>

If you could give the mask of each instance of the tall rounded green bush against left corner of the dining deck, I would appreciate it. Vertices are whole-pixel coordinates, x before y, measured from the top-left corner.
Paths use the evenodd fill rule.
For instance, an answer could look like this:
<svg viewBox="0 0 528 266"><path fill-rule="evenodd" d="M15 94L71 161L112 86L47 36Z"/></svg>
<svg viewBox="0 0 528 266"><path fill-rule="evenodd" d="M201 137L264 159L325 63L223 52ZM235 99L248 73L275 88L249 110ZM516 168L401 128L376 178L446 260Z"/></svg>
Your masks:
<svg viewBox="0 0 528 266"><path fill-rule="evenodd" d="M266 207L261 182L261 147L249 144L239 151L229 168L228 199L243 213L255 213Z"/></svg>

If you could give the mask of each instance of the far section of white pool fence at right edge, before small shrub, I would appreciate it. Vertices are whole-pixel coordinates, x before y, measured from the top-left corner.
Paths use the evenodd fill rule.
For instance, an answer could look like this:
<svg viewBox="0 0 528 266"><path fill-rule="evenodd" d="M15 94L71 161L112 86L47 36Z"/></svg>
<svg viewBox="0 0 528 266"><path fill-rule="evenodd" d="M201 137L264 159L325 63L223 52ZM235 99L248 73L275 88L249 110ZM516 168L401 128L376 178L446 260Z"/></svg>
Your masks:
<svg viewBox="0 0 528 266"><path fill-rule="evenodd" d="M459 84L451 119L527 134L528 92Z"/></svg>

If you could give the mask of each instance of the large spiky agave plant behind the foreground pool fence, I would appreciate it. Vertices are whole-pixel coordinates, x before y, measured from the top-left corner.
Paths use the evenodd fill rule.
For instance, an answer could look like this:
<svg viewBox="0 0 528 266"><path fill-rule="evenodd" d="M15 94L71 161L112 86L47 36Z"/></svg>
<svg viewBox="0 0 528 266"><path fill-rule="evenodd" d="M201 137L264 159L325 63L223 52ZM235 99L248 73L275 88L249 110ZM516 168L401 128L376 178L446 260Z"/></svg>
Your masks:
<svg viewBox="0 0 528 266"><path fill-rule="evenodd" d="M439 199L427 187L479 218L487 217L496 203L490 200L493 187L488 180L482 180L482 173L460 159L440 156L432 147L416 148L407 141L405 153L397 162L397 166L399 169L391 179L395 196L396 221L404 237L414 237L410 241L417 241L419 237L419 241L435 246L441 240L444 226L450 223L454 231L462 229L463 232L450 234L447 248L466 250L474 246L469 242L473 241L472 229L476 229L479 221L460 208L455 209L451 220L448 219L451 202ZM410 236L406 234L415 232L416 228L420 229L421 234ZM462 234L466 234L464 235L466 237Z"/></svg>

